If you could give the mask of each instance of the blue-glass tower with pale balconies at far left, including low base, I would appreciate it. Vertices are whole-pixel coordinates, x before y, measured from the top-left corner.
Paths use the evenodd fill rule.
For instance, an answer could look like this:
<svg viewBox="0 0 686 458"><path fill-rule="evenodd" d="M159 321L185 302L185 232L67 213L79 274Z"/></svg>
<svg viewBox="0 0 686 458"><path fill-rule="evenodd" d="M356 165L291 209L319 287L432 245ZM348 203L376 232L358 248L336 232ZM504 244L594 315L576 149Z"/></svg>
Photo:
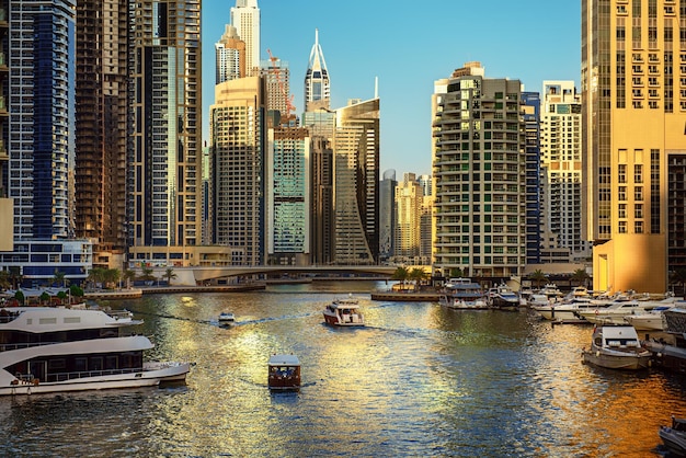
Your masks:
<svg viewBox="0 0 686 458"><path fill-rule="evenodd" d="M0 108L0 162L7 146L2 188L14 207L5 219L12 203L0 198L0 233L11 241L0 244L13 250L0 252L0 270L23 287L49 285L56 273L79 284L93 260L91 242L73 238L76 2L9 1L0 10L0 73L9 72L0 95L11 95Z"/></svg>

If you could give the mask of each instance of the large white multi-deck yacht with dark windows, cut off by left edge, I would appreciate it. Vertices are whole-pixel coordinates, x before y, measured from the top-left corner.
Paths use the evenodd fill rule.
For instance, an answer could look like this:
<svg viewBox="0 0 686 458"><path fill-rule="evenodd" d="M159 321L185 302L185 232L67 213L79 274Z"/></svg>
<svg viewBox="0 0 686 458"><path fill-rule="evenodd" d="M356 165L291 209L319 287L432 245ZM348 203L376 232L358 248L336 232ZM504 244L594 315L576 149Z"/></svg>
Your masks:
<svg viewBox="0 0 686 458"><path fill-rule="evenodd" d="M144 362L153 348L128 311L64 307L0 310L0 394L157 386L185 380L190 363Z"/></svg>

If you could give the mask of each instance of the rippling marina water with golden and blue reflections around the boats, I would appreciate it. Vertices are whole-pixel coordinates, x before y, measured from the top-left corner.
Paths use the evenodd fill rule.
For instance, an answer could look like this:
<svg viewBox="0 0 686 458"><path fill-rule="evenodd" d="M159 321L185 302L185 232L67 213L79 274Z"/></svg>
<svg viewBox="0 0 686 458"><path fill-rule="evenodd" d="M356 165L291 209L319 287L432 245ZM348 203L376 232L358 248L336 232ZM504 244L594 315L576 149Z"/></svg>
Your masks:
<svg viewBox="0 0 686 458"><path fill-rule="evenodd" d="M145 324L153 359L192 360L186 385L0 399L0 456L647 457L684 376L581 363L591 328L527 310L371 301L375 282L108 302ZM366 328L323 324L348 293ZM231 311L237 322L220 325ZM266 360L293 353L302 388L270 393Z"/></svg>

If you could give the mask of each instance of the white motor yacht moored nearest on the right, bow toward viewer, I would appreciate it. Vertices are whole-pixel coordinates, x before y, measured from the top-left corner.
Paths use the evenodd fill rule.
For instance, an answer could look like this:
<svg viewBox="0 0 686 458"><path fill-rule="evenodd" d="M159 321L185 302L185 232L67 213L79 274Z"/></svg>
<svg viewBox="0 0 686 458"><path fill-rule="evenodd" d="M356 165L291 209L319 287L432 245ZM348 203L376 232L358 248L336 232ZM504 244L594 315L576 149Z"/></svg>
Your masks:
<svg viewBox="0 0 686 458"><path fill-rule="evenodd" d="M608 369L637 370L650 366L652 354L630 325L596 325L591 348L582 351L584 363Z"/></svg>

